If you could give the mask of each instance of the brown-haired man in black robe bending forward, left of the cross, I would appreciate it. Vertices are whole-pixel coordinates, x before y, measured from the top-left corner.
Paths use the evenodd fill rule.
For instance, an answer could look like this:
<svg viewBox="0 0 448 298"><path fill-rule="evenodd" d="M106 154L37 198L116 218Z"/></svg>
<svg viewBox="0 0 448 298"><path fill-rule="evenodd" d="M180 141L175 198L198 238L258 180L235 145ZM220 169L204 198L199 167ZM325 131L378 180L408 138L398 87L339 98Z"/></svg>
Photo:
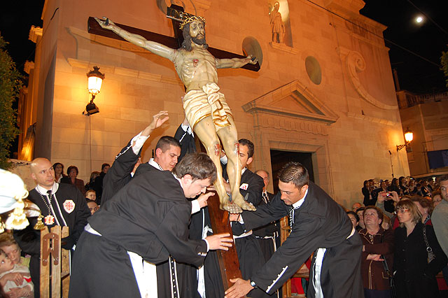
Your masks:
<svg viewBox="0 0 448 298"><path fill-rule="evenodd" d="M203 153L186 155L174 173L133 178L89 218L76 247L69 297L146 297L153 289L146 286L143 260L158 264L172 255L200 267L209 249L228 250L229 234L188 239L186 198L205 192L215 179L216 167Z"/></svg>

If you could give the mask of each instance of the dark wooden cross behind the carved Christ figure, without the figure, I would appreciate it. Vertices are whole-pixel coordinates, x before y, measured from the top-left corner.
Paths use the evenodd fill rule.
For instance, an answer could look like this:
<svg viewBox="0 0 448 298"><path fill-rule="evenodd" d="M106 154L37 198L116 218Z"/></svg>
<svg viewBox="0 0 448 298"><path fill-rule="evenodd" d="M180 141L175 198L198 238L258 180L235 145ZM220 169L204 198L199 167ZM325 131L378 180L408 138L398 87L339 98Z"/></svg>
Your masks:
<svg viewBox="0 0 448 298"><path fill-rule="evenodd" d="M143 36L148 41L155 41L161 43L162 45L166 45L169 48L177 49L181 47L183 41L183 35L182 31L179 29L179 19L176 20L176 15L183 13L183 8L181 8L180 6L172 5L171 9L169 8L168 12L170 15L167 15L167 17L171 18L173 21L175 37L165 36L151 31L145 31L143 29L126 26L125 24L118 24L118 23L115 24L118 27L123 28L130 33L139 34L140 36ZM94 17L89 17L88 32L90 34L96 34L100 36L118 39L120 41L125 41L125 39L113 33L113 31L103 29L98 24L98 22L94 20ZM232 52L226 52L225 50L218 50L216 48L209 47L207 50L209 50L211 55L214 55L214 57L218 59L246 58L246 56L238 55ZM260 70L260 64L258 64L258 62L256 64L246 64L241 68L248 69L250 71L258 71ZM221 209L219 209L218 194L215 194L214 196L210 197L208 201L209 201L208 208L209 208L211 226L214 233L216 234L229 233L232 236L232 227L230 227L230 222L228 220L229 215L227 211L222 211ZM219 267L221 269L221 276L223 278L223 286L225 289L228 289L231 286L230 278L237 278L237 277L241 278L241 271L239 271L237 250L234 245L227 251L217 250L217 253L218 253Z"/></svg>

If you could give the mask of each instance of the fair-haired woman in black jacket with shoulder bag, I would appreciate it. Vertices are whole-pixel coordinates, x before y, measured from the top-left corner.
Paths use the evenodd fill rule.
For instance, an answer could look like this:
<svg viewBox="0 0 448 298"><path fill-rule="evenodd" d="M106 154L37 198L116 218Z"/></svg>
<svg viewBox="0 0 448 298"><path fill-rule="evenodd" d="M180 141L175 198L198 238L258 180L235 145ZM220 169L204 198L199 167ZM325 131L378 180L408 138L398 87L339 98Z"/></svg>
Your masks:
<svg viewBox="0 0 448 298"><path fill-rule="evenodd" d="M397 297L440 297L435 276L448 259L437 242L433 227L423 225L419 208L410 199L399 201L395 211L400 221L400 227L395 229L393 259ZM428 254L428 247L433 254Z"/></svg>

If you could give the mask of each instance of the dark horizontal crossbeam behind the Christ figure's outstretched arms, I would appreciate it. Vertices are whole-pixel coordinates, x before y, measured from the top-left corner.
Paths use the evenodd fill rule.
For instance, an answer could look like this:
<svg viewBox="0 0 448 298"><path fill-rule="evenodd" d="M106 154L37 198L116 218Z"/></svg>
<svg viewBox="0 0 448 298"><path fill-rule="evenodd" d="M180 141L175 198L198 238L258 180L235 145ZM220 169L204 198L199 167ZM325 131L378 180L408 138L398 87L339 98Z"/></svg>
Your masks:
<svg viewBox="0 0 448 298"><path fill-rule="evenodd" d="M173 20L173 25L176 23L177 23L177 21ZM118 27L123 28L130 33L139 34L140 36L143 36L144 38L146 38L148 41L155 41L157 43L162 43L162 45L166 45L169 48L173 48L173 49L180 48L180 44L182 43L182 42L179 43L179 41L181 41L181 38L182 38L182 33L179 35L176 34L177 35L177 38L176 38L176 37L158 34L158 33L151 32L151 31L145 31L143 29L126 26L125 24L118 24L118 23L115 23L115 24ZM94 19L94 17L89 17L89 20L87 21L87 27L88 27L88 32L90 34L96 34L99 36L105 36L105 37L109 37L109 38L113 38L113 39L118 39L119 41L125 41L125 39L121 38L120 36L113 33L112 31L103 29L101 26L99 26L98 22ZM176 29L180 30L179 25L178 26L174 25L174 32L176 32ZM246 58L246 56L238 55L233 52L227 52L225 50L219 50L216 48L209 47L207 50L209 50L211 55L214 55L214 57L216 57L218 59L232 59L232 58L244 59L244 58ZM247 69L249 71L259 71L260 64L258 62L257 62L257 64L246 64L246 65L242 66L241 69Z"/></svg>

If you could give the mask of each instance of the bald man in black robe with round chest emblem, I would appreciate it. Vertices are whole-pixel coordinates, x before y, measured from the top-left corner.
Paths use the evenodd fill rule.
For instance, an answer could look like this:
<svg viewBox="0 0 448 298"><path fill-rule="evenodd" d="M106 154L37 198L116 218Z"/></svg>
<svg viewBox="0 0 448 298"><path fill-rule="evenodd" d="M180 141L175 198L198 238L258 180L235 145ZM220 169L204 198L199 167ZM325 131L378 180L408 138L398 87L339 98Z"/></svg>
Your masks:
<svg viewBox="0 0 448 298"><path fill-rule="evenodd" d="M74 185L56 183L52 163L46 158L34 159L30 168L31 178L37 185L29 192L28 199L41 209L42 221L49 229L55 225L69 227L69 236L62 239L62 248L72 250L90 215L83 194ZM33 229L36 218L30 222L27 229L15 231L14 238L23 252L31 255L29 271L36 285L35 297L39 297L41 235Z"/></svg>

